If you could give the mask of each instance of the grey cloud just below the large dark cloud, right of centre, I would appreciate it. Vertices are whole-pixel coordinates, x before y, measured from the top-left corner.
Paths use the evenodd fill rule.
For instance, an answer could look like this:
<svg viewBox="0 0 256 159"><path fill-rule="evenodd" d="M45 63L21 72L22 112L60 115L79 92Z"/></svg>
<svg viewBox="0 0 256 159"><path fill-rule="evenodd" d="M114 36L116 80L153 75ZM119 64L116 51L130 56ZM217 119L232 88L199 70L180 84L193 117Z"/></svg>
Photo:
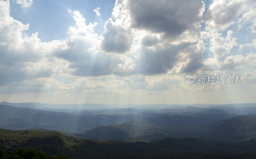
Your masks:
<svg viewBox="0 0 256 159"><path fill-rule="evenodd" d="M140 57L138 57L138 59L135 59L135 72L145 75L166 73L171 70L175 64L177 64L178 62L182 62L183 57L180 54L182 50L188 51L186 52L186 54L189 55L189 57L193 58L193 62L195 62L197 57L200 57L200 53L197 57L193 57L193 54L196 52L196 50L191 49L191 46L193 46L193 43L170 45L166 48L159 47L155 50L142 47L142 49L140 50ZM202 63L202 61L199 62ZM189 66L191 67L191 70L195 70L198 68L198 66L194 67L191 64L189 64Z"/></svg>

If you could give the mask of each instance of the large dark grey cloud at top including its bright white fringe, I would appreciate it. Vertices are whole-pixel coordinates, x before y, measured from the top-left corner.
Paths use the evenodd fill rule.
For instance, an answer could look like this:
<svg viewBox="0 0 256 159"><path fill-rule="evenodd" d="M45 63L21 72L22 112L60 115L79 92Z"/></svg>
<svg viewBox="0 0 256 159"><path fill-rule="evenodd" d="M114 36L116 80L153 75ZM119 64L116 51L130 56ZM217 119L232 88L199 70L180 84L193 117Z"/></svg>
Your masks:
<svg viewBox="0 0 256 159"><path fill-rule="evenodd" d="M118 11L119 9L119 11ZM153 1L131 0L117 1L112 16L123 25L163 34L165 38L175 40L178 35L196 37L204 12L202 1ZM126 15L124 15L126 14ZM120 15L124 19L119 18ZM129 18L127 18L129 17ZM129 21L130 24L126 24ZM189 35L186 33L189 32ZM194 34L190 34L194 33ZM183 38L183 37L182 37ZM183 38L185 41L186 39Z"/></svg>

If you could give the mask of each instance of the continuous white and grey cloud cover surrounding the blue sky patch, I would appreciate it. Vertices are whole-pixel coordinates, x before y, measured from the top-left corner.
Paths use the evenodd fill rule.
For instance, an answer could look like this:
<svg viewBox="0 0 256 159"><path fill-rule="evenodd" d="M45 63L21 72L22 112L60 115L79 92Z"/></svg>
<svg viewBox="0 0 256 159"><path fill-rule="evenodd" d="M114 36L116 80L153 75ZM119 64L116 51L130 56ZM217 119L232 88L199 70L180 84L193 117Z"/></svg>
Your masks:
<svg viewBox="0 0 256 159"><path fill-rule="evenodd" d="M33 3L16 2L23 9ZM252 0L216 0L205 11L202 1L117 0L102 33L95 32L97 22L87 23L79 11L68 10L75 24L67 28L66 38L42 42L38 32L25 34L29 24L13 19L9 1L0 0L0 90L125 95L214 91L216 87L186 86L184 74L237 70L255 83L255 6ZM98 17L99 10L93 10ZM240 39L241 30L249 33L246 40ZM55 75L74 81L62 83Z"/></svg>

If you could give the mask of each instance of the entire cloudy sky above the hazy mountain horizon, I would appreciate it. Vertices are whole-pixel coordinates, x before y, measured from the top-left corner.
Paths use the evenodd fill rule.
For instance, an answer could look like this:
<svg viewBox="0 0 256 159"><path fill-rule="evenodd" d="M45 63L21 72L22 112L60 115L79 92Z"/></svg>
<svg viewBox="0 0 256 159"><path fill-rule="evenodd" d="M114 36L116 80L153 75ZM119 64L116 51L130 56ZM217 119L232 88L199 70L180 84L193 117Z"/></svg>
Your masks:
<svg viewBox="0 0 256 159"><path fill-rule="evenodd" d="M0 0L0 101L256 102L255 49L254 0Z"/></svg>

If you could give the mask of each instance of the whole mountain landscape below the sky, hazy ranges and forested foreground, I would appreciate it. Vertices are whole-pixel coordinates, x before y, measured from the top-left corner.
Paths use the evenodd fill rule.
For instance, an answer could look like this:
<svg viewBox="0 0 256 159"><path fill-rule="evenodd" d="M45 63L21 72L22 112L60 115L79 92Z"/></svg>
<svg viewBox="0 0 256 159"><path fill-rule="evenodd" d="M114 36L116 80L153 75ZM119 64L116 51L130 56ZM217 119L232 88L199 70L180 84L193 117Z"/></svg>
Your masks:
<svg viewBox="0 0 256 159"><path fill-rule="evenodd" d="M256 157L255 103L83 104L72 109L72 104L2 103L12 104L0 104L0 148L5 151L36 148L73 158Z"/></svg>

